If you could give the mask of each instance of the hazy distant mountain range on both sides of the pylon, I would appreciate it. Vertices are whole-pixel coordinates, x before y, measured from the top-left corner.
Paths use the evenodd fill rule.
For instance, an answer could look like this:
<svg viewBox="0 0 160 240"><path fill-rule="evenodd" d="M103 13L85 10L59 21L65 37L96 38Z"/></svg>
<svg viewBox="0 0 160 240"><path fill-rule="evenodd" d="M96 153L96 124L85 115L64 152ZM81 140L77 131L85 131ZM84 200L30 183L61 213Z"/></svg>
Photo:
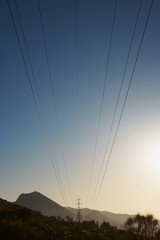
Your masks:
<svg viewBox="0 0 160 240"><path fill-rule="evenodd" d="M39 192L23 193L18 197L15 203L32 210L40 211L46 216L60 216L62 218L70 216L74 218L74 213L76 211L74 208L64 208L60 206ZM118 228L124 224L127 218L132 217L132 215L115 214L107 211L98 211L88 208L82 209L82 215L85 215L83 217L84 220L94 220L99 222L99 224L101 224L103 221L106 221Z"/></svg>

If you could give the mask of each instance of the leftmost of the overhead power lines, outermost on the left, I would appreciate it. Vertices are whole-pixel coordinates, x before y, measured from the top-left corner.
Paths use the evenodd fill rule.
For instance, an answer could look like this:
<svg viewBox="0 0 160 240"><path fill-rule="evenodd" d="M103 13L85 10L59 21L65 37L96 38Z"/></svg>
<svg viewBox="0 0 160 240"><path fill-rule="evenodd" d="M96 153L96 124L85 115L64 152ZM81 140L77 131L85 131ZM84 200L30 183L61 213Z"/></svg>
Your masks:
<svg viewBox="0 0 160 240"><path fill-rule="evenodd" d="M32 82L31 82L31 79L30 79L30 76L29 76L29 71L28 71L28 68L27 68L27 64L26 64L26 61L25 61L24 54L23 54L23 50L22 50L22 46L21 46L21 43L20 43L20 39L19 39L19 36L18 36L18 31L17 31L17 28L16 28L16 24L15 24L15 21L14 21L14 18L13 18L13 14L12 14L12 10L11 10L11 7L10 7L10 4L9 4L8 0L7 0L7 5L8 5L9 13L10 13L10 16L11 16L11 20L12 20L12 23L13 23L13 27L14 27L14 30L15 30L15 33L16 33L16 38L17 38L18 46L19 46L19 49L20 49L20 52L21 52L22 60L23 60L24 66L25 66L27 79L28 79L29 86L30 86L30 89L31 89L32 97L33 97L33 100L34 100L34 103L35 103L36 111L37 111L38 118L39 118L39 121L40 121L40 125L41 125L41 128L42 128L42 133L43 133L45 141L46 141L46 147L47 147L47 150L48 150L49 158L50 158L51 163L52 163L52 167L53 167L53 170L54 170L54 173L55 173L55 176L56 176L56 180L57 180L57 183L58 183L61 195L62 195L63 202L64 202L64 204L66 206L64 193L63 193L63 190L61 189L61 185L60 185L60 181L58 179L57 171L56 171L55 165L53 163L53 159L52 159L51 152L50 152L50 149L49 149L49 143L48 143L48 140L47 140L47 135L46 135L45 128L44 128L44 125L43 125L41 114L39 112L38 104L37 104L36 97L35 97L35 94L34 94L34 89L33 89Z"/></svg>

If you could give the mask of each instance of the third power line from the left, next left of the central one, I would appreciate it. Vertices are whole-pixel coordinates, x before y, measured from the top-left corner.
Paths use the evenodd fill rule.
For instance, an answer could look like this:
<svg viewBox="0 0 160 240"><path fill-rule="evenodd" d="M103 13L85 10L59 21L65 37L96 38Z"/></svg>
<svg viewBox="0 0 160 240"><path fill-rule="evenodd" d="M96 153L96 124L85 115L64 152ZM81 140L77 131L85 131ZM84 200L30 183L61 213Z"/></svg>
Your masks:
<svg viewBox="0 0 160 240"><path fill-rule="evenodd" d="M52 74L51 74L51 68L50 68L50 62L49 62L49 56L48 56L48 48L47 48L47 42L46 42L46 37L45 37L45 30L44 30L44 24L43 24L43 18L42 18L42 12L41 12L41 7L40 7L39 0L37 0L37 3L38 3L38 12L39 12L39 16L40 16L41 29L42 29L42 36L43 36L44 47L45 47L45 54L46 54L47 67L48 67L48 73L49 73L49 80L50 80L50 85L51 85L53 105L54 105L54 109L55 109L57 128L58 128L58 133L59 133L60 142L61 142L61 139L62 139L61 135L62 135L62 133L60 131L60 122L59 122L59 117L58 117L58 112L57 112L57 104L56 104L56 99L55 99L55 94L54 94L53 78L52 78ZM65 166L65 174L66 174L66 177L67 177L67 182L68 182L68 185L70 185L69 178L68 178L68 171L67 171L67 166L66 166L66 162L65 162L65 158L64 158L64 151L63 150L62 150L62 158L63 158L63 163L64 163L64 166ZM59 173L59 175L60 175L60 173ZM62 188L63 188L63 184L62 184ZM71 188L69 187L69 189L71 189ZM71 201L72 201L72 199L71 199Z"/></svg>

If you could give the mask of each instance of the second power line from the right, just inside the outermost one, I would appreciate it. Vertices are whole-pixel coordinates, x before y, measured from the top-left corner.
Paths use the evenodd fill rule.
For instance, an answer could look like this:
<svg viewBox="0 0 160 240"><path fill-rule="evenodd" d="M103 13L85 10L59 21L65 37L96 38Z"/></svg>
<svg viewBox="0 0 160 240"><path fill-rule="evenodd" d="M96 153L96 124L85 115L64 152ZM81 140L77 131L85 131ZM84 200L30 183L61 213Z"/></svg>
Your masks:
<svg viewBox="0 0 160 240"><path fill-rule="evenodd" d="M128 66L128 62L129 62L129 58L130 58L130 53L131 53L131 49L132 49L132 45L133 45L133 40L134 40L134 36L135 36L135 31L136 31L136 28L137 28L137 23L138 23L138 19L139 19L139 14L140 14L140 10L141 10L141 5L142 5L142 0L140 1L139 6L138 6L138 11L137 11L137 15L136 15L136 20L135 20L135 24L134 24L134 28L133 28L133 33L132 33L132 37L131 37L131 41L130 41L130 45L129 45L129 51L128 51L127 58L126 58L126 63L125 63L125 67L124 67L124 72L123 72L123 75L122 75L122 80L121 80L120 89L119 89L119 93L118 93L118 97L117 97L117 101L116 101L116 106L115 106L115 109L114 109L114 114L113 114L113 118L112 118L112 122L111 122L111 127L110 127L110 131L109 131L108 139L107 139L107 144L106 144L106 147L105 147L105 151L104 151L104 155L103 155L103 159L102 159L101 168L100 168L100 171L99 171L99 174L98 174L98 180L97 180L97 183L96 183L96 188L95 188L95 191L94 191L94 194L93 194L93 198L92 198L92 199L94 199L94 197L95 197L95 194L96 194L96 191L97 191L97 188L98 188L98 184L99 184L99 180L100 180L100 176L101 176L101 173L102 173L104 161L105 161L105 156L106 156L106 153L107 153L107 151L108 151L108 146L109 146L109 142L110 142L110 138L111 138L111 133L112 133L112 130L113 130L113 125L114 125L115 117L116 117L116 114L117 114L117 108L118 108L118 105L119 105L119 100L120 100L120 96L121 96L121 92L122 92L122 87L123 87L123 84L124 84L124 79L125 79L125 75L126 75L126 70L127 70L127 66Z"/></svg>

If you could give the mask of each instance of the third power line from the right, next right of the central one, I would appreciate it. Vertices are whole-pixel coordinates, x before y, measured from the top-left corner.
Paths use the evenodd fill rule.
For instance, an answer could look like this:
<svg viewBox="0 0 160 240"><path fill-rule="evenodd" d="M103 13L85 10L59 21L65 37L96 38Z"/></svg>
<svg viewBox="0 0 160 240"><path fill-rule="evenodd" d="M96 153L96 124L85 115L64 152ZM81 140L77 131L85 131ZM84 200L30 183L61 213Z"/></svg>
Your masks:
<svg viewBox="0 0 160 240"><path fill-rule="evenodd" d="M88 192L87 192L87 198L86 199L88 199L88 195L89 195L90 188L91 188L91 181L92 181L92 176L93 176L95 156L96 156L96 151L97 151L100 122L101 122L101 117L102 117L102 109L103 109L103 104L104 104L104 95L105 95L107 76L108 76L108 68L109 68L109 61L110 61L110 54L111 54L111 48L112 48L112 38L113 38L113 31L114 31L114 25L115 25L116 9L117 9L117 0L115 1L114 11L113 11L113 19L112 19L110 41L109 41L109 50L108 50L108 56L107 56L105 79L104 79L103 92L102 92L101 105L100 105L100 112L99 112L99 118L98 118L98 127L97 127L97 132L96 132L96 141L95 141L94 152L93 152L91 175L90 175L90 179L89 179L89 187L88 187Z"/></svg>

